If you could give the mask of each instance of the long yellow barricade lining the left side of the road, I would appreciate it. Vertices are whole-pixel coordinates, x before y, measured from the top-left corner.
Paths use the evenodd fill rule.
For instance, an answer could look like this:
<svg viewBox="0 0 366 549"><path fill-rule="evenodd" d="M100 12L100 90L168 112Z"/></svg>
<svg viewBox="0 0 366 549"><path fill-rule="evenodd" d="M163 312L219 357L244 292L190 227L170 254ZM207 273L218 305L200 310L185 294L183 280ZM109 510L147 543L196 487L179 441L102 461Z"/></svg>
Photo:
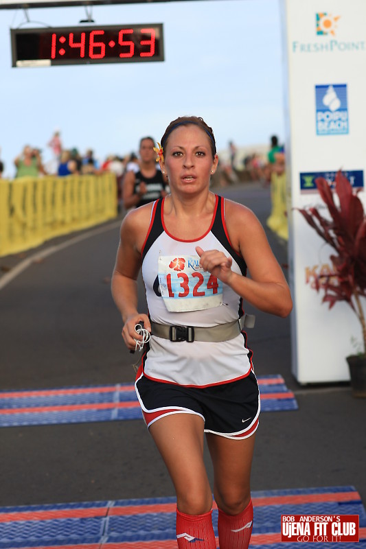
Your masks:
<svg viewBox="0 0 366 549"><path fill-rule="evenodd" d="M0 179L0 257L116 216L114 174Z"/></svg>

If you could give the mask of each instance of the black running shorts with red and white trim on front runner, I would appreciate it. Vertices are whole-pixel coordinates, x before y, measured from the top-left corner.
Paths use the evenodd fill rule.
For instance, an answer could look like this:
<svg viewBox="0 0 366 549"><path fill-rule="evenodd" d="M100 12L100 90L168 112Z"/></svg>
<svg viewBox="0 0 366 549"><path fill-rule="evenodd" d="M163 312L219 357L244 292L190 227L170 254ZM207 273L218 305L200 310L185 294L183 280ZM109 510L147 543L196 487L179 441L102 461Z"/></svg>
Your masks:
<svg viewBox="0 0 366 549"><path fill-rule="evenodd" d="M237 381L204 388L156 382L141 369L135 383L146 425L170 414L197 414L205 432L247 439L258 428L260 392L253 371Z"/></svg>

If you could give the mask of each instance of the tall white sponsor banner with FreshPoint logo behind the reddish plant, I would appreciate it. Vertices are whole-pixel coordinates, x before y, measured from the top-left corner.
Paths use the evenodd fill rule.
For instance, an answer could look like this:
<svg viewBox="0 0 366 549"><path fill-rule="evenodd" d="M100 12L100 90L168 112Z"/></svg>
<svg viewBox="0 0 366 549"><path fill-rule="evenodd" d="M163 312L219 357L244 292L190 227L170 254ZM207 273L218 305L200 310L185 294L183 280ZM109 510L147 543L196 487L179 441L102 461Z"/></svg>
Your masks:
<svg viewBox="0 0 366 549"><path fill-rule="evenodd" d="M329 310L314 274L331 271L327 246L295 208L325 205L314 180L343 170L365 200L366 1L282 0L287 57L288 219L293 293L293 373L300 383L350 379L347 355L362 348L346 303Z"/></svg>

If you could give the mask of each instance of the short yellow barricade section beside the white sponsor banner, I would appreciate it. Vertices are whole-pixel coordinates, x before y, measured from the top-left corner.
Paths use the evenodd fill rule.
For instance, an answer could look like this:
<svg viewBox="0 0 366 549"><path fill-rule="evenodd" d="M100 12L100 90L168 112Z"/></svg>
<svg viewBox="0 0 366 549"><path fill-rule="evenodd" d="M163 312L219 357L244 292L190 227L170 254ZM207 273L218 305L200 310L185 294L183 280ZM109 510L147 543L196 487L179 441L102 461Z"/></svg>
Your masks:
<svg viewBox="0 0 366 549"><path fill-rule="evenodd" d="M271 215L266 223L268 227L284 240L288 240L288 219L286 216L286 172L271 176Z"/></svg>

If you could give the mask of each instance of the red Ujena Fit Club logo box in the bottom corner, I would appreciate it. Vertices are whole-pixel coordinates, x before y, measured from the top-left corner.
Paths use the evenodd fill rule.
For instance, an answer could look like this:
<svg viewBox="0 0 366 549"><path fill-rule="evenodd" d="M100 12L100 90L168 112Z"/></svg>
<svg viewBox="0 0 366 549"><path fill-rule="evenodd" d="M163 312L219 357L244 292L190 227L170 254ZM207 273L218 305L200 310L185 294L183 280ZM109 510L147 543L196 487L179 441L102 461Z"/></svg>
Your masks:
<svg viewBox="0 0 366 549"><path fill-rule="evenodd" d="M281 515L281 541L357 542L358 530L358 515Z"/></svg>

